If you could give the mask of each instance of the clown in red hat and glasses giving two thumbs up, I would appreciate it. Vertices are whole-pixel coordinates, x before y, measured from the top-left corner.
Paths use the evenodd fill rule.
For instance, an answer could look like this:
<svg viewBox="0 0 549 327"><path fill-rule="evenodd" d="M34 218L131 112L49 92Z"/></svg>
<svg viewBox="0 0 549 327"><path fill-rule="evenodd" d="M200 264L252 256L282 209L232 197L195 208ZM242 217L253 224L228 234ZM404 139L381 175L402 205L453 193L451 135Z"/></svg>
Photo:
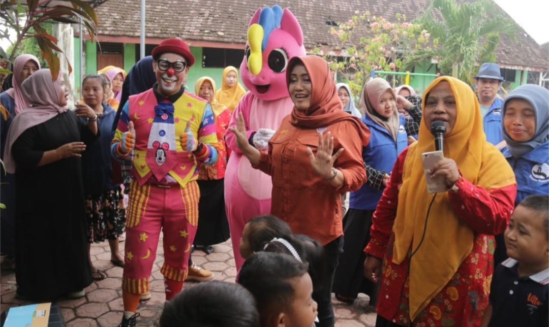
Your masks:
<svg viewBox="0 0 549 327"><path fill-rule="evenodd" d="M166 301L183 287L198 223L197 161L217 160L217 137L210 105L185 91L194 57L176 38L153 49L156 83L132 95L122 109L111 153L125 160L132 150L122 327L136 325L139 297L149 291L160 230L164 233Z"/></svg>

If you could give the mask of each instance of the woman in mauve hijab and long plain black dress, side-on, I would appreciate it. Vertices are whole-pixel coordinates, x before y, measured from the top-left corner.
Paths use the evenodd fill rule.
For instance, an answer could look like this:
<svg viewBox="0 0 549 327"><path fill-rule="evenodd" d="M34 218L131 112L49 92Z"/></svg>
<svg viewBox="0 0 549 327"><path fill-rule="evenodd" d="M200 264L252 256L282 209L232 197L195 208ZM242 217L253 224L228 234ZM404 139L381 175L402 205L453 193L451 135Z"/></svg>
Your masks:
<svg viewBox="0 0 549 327"><path fill-rule="evenodd" d="M49 69L28 77L21 92L31 106L15 116L4 152L15 174L16 297L81 297L92 276L80 157L97 137L97 116L89 107L68 110L63 76L52 81Z"/></svg>

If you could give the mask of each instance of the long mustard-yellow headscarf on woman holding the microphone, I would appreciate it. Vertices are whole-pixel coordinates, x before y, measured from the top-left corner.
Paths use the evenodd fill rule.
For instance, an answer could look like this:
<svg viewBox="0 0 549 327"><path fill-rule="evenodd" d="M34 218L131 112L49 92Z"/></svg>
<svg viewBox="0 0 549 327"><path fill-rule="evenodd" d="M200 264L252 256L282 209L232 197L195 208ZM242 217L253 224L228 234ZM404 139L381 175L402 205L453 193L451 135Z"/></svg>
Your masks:
<svg viewBox="0 0 549 327"><path fill-rule="evenodd" d="M442 81L450 83L456 98L456 122L444 137L444 157L456 161L463 178L486 190L515 182L513 171L494 145L486 142L477 98L471 88L453 77L436 78L424 94ZM423 110L425 110L423 98ZM425 117L425 113L423 114ZM421 241L429 203L421 154L434 151L434 137L422 120L418 141L410 146L404 163L399 205L393 232L393 262L406 260ZM473 249L474 232L453 211L448 193L439 193L429 211L423 243L410 263L410 318L413 320L450 281Z"/></svg>

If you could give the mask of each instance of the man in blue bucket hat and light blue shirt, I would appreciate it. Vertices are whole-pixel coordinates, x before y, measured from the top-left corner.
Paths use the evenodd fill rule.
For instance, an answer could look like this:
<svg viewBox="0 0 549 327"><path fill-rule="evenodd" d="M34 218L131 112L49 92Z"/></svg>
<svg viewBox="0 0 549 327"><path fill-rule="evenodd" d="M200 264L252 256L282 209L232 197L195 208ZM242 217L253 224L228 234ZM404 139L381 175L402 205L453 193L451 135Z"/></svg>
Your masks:
<svg viewBox="0 0 549 327"><path fill-rule="evenodd" d="M486 140L501 148L503 141L501 135L501 104L502 100L496 97L500 91L501 77L500 66L494 63L484 63L480 66L479 73L473 76L477 81L477 92L480 104L480 112L483 116L484 134Z"/></svg>

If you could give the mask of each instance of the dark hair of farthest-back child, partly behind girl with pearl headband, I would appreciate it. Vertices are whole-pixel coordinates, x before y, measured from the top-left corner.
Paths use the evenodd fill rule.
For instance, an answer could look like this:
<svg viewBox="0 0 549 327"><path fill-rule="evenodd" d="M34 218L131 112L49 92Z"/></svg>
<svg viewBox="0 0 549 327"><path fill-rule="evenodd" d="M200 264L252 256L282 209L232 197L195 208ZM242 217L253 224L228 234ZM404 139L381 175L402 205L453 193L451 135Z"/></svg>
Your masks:
<svg viewBox="0 0 549 327"><path fill-rule="evenodd" d="M256 216L251 218L248 224L248 242L252 252L263 251L265 244L273 238L283 238L292 234L290 226L273 215Z"/></svg>

